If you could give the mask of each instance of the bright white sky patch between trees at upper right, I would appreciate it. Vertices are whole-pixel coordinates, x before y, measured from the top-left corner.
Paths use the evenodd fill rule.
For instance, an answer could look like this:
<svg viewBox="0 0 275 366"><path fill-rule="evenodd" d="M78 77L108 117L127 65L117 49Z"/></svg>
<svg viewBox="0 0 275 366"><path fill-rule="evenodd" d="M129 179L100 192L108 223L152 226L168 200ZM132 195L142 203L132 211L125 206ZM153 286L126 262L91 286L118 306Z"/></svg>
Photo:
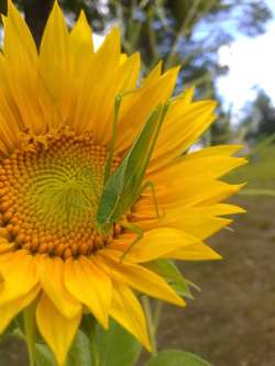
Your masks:
<svg viewBox="0 0 275 366"><path fill-rule="evenodd" d="M275 0L266 3L275 16ZM258 89L264 89L275 104L275 20L268 22L266 33L254 38L239 36L231 45L222 46L219 62L229 67L229 73L218 79L218 91L234 122Z"/></svg>

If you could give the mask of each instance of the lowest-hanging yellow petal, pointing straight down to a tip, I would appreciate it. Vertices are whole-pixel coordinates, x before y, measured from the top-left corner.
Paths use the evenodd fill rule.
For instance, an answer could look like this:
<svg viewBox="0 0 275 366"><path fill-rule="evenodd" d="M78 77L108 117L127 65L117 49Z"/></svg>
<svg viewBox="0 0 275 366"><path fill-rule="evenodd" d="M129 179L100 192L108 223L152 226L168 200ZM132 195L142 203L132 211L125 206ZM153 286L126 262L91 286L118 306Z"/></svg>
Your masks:
<svg viewBox="0 0 275 366"><path fill-rule="evenodd" d="M36 323L38 330L61 366L65 364L80 320L81 312L75 318L65 318L46 296L43 296L37 304Z"/></svg>

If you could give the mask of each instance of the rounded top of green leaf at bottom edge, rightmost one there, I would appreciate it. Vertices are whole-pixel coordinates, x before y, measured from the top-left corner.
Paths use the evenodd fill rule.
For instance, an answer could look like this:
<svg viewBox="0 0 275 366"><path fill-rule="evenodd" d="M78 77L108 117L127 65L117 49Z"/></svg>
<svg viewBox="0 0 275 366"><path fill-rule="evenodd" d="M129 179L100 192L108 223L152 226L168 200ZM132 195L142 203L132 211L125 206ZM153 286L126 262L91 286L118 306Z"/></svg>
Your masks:
<svg viewBox="0 0 275 366"><path fill-rule="evenodd" d="M151 358L145 366L211 366L199 356L176 350L162 351Z"/></svg>

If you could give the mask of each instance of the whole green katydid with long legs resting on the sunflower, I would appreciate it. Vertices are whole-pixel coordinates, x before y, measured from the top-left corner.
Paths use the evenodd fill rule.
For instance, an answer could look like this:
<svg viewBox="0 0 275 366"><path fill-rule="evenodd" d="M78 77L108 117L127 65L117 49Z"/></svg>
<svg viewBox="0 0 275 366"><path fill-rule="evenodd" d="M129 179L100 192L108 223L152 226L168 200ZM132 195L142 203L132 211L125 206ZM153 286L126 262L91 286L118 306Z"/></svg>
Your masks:
<svg viewBox="0 0 275 366"><path fill-rule="evenodd" d="M111 162L113 158L113 151L116 144L116 131L119 117L119 107L121 97L116 98L114 102L114 122L113 122L113 137L110 145L110 153L106 165L105 187L100 198L99 208L97 212L97 229L102 234L108 234L113 228L113 223L120 222L125 229L136 233L136 239L132 242L129 248L121 256L121 260L125 254L140 241L143 236L143 230L128 221L121 221L121 218L128 213L133 203L139 199L141 193L151 188L153 199L156 207L158 217L158 209L154 186L151 181L143 179L147 165L150 163L161 126L163 124L165 114L168 109L168 103L157 106L151 113L145 122L142 131L134 141L131 149L123 158L120 166L111 175Z"/></svg>

